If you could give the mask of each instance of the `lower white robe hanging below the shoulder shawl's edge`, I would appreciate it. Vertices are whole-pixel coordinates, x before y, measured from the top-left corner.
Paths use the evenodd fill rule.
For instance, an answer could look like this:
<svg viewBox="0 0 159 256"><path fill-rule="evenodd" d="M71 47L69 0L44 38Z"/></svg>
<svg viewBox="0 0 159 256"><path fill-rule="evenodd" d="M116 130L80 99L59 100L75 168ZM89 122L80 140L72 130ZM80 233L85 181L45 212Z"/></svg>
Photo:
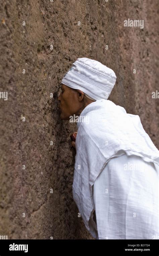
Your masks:
<svg viewBox="0 0 159 256"><path fill-rule="evenodd" d="M98 239L158 239L158 174L136 155L113 157L93 185Z"/></svg>

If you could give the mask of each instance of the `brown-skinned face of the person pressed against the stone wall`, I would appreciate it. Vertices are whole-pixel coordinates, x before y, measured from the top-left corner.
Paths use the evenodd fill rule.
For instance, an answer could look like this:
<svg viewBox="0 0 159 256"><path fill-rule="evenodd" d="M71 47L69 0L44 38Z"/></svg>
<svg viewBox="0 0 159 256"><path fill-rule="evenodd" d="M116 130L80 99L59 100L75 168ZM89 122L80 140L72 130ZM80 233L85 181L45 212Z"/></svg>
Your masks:
<svg viewBox="0 0 159 256"><path fill-rule="evenodd" d="M69 116L73 116L73 114L78 115L80 109L83 108L86 96L84 96L82 91L72 89L63 84L61 90L62 92L58 97L60 117L63 120L69 120Z"/></svg>

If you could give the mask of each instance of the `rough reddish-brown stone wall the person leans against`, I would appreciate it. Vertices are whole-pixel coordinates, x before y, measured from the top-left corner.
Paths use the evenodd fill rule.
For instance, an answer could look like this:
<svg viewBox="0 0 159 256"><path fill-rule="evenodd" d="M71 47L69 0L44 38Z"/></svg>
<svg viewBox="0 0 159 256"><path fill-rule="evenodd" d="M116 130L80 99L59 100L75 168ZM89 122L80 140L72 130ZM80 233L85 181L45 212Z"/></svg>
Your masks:
<svg viewBox="0 0 159 256"><path fill-rule="evenodd" d="M76 125L60 120L57 110L60 81L78 57L115 71L109 99L138 114L159 147L159 107L152 99L159 80L157 4L0 0L0 91L8 92L8 100L0 99L0 235L92 239L72 198L69 135ZM128 18L144 20L144 29L124 27Z"/></svg>

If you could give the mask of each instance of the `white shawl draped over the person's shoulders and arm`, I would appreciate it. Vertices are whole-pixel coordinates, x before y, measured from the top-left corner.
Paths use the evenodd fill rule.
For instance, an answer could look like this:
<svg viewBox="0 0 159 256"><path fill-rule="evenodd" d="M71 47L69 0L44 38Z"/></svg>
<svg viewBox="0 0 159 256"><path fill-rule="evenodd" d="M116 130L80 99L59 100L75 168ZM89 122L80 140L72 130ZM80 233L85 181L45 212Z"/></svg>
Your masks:
<svg viewBox="0 0 159 256"><path fill-rule="evenodd" d="M73 199L86 228L96 238L89 227L94 209L92 186L105 165L112 157L126 153L153 162L158 172L159 151L143 129L140 117L126 113L110 100L90 103L80 116L87 117L87 122L77 122Z"/></svg>

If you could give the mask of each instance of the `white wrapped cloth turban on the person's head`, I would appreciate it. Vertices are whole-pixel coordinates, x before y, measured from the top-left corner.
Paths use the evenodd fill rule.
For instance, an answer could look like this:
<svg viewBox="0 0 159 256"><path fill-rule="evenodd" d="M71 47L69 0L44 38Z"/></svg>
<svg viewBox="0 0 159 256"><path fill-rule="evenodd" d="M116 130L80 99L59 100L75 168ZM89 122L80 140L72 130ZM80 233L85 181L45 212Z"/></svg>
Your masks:
<svg viewBox="0 0 159 256"><path fill-rule="evenodd" d="M107 100L116 82L114 71L97 60L78 58L66 72L62 84L79 89L93 100Z"/></svg>

